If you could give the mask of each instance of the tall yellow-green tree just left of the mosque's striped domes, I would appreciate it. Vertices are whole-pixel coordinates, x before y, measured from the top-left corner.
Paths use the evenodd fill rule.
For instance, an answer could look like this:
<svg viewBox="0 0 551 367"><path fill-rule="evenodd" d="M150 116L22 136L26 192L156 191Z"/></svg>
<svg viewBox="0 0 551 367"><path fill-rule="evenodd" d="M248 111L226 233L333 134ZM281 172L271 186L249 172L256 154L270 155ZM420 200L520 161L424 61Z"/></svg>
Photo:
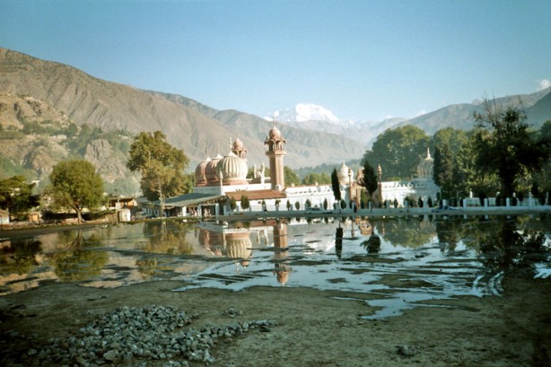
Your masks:
<svg viewBox="0 0 551 367"><path fill-rule="evenodd" d="M175 197L190 191L191 183L184 174L188 167L184 151L166 141L161 131L142 132L130 145L127 168L140 172L140 187L149 200L159 200L161 215L167 197Z"/></svg>

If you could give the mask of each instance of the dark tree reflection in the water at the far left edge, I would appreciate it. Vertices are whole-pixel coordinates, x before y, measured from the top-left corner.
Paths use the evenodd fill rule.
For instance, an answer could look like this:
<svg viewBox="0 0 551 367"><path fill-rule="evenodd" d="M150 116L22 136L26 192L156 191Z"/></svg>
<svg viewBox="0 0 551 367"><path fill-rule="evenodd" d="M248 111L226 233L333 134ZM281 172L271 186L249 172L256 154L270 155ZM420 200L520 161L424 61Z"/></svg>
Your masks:
<svg viewBox="0 0 551 367"><path fill-rule="evenodd" d="M12 240L0 243L0 272L3 274L28 274L33 266L39 265L36 254L40 241L34 239Z"/></svg>

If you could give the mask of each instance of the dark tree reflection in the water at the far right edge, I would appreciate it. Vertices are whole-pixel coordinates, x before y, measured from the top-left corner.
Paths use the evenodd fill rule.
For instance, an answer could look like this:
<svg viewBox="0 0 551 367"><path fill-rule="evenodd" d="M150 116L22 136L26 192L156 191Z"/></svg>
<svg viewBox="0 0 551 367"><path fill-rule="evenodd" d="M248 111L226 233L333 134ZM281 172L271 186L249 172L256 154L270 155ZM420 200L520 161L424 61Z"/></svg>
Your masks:
<svg viewBox="0 0 551 367"><path fill-rule="evenodd" d="M485 267L490 273L515 272L533 276L537 262L546 261L544 232L518 230L517 223L503 221L480 238Z"/></svg>

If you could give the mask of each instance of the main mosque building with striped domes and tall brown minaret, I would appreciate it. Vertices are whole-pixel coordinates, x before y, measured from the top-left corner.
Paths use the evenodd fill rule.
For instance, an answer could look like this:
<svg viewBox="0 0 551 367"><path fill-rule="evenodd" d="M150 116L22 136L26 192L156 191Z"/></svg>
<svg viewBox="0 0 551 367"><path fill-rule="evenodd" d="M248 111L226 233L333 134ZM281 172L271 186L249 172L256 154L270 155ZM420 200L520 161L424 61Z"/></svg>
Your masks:
<svg viewBox="0 0 551 367"><path fill-rule="evenodd" d="M269 177L265 176L265 165L258 169L253 166L253 177L247 178L249 166L245 144L238 137L230 144L230 152L225 156L218 153L199 162L195 169L196 185L193 193L171 197L165 201L165 207L171 215L214 215L229 214L240 211L276 211L301 210L308 206L328 208L335 205L333 189L330 185L312 185L287 187L284 181L284 144L283 134L275 126L268 131L264 141L268 159ZM257 157L258 159L259 157ZM342 197L346 197L348 175L350 170L343 164L341 167ZM249 208L243 209L241 199L247 197ZM232 208L231 203L237 204Z"/></svg>

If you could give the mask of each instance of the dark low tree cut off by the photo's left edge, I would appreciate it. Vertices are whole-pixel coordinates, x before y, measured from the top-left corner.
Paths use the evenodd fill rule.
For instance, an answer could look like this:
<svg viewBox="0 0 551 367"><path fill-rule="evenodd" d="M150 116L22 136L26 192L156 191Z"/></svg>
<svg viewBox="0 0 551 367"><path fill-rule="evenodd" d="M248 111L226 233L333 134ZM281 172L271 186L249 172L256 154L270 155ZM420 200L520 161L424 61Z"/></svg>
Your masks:
<svg viewBox="0 0 551 367"><path fill-rule="evenodd" d="M21 217L32 207L39 205L39 196L32 195L34 184L27 184L23 176L0 180L0 208Z"/></svg>

